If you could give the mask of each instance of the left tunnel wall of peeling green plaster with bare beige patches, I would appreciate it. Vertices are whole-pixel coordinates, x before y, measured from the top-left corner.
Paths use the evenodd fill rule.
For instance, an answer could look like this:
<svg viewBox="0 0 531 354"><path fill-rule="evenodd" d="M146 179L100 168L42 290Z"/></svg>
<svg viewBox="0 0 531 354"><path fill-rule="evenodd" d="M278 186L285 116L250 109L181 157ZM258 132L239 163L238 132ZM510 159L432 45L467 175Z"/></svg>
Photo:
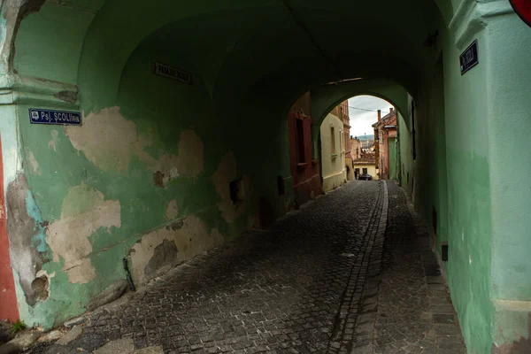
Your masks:
<svg viewBox="0 0 531 354"><path fill-rule="evenodd" d="M257 226L258 197L245 173L256 162L233 153L225 133L234 127L212 119L199 76L184 85L151 73L151 58L193 72L164 48L155 39L135 51L112 106L93 112L81 101L81 127L30 125L33 105L19 106L24 168L9 210L24 222L10 235L28 325L49 328L83 312L125 278L124 257L142 284ZM245 200L233 204L237 178Z"/></svg>

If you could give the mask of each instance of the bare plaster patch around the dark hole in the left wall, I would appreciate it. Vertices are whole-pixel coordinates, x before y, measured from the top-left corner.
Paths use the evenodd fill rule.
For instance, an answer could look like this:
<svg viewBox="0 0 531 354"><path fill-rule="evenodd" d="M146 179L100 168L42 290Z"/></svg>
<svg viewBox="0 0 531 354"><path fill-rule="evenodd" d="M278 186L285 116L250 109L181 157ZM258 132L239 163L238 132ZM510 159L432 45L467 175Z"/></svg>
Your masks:
<svg viewBox="0 0 531 354"><path fill-rule="evenodd" d="M230 197L230 182L234 181L237 177L236 159L232 151L221 158L218 169L212 174L212 181L216 187L221 203L218 204L221 216L228 223L235 221L237 217L245 212L248 204L247 200L243 200L242 203L234 204ZM247 176L242 176L242 190L240 193L242 196L250 196L250 180Z"/></svg>

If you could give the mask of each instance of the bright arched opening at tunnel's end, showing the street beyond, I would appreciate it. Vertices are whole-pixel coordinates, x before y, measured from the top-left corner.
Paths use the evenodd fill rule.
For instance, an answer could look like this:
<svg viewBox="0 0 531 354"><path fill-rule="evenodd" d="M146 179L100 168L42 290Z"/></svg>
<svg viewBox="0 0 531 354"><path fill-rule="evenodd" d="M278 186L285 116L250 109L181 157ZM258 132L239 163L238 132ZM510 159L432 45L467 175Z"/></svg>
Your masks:
<svg viewBox="0 0 531 354"><path fill-rule="evenodd" d="M353 180L399 181L398 122L406 135L404 150L409 150L411 124L405 125L394 104L380 97L352 96L327 112L317 142L323 191ZM404 174L411 170L408 164Z"/></svg>

